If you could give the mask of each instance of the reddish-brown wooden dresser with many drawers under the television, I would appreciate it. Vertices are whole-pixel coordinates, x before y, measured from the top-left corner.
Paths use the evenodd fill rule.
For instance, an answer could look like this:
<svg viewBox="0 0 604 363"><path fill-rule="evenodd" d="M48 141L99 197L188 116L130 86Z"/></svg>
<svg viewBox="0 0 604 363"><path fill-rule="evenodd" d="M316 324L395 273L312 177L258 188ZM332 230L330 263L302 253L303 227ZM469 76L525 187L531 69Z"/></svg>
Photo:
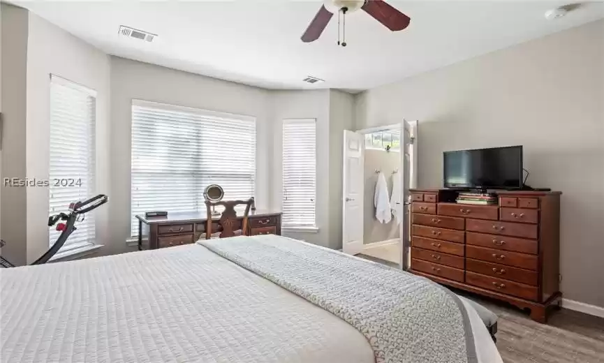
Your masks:
<svg viewBox="0 0 604 363"><path fill-rule="evenodd" d="M411 272L531 309L558 306L559 192L496 191L499 205L457 204L457 191L411 190Z"/></svg>

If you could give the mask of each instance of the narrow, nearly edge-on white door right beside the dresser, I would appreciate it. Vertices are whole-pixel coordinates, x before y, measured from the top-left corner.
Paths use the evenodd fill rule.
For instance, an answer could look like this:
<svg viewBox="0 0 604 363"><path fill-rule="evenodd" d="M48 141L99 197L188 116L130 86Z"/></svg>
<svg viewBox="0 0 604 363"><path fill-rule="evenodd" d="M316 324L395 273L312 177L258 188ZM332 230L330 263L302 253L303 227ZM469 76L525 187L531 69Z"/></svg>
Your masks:
<svg viewBox="0 0 604 363"><path fill-rule="evenodd" d="M408 269L411 265L411 211L409 210L411 207L411 193L409 192L409 188L417 187L417 128L418 121L403 121L402 125L402 158L401 161L403 163L403 178L402 178L402 195L404 200L404 213L403 213L403 223L401 223L401 236L403 247L401 249L402 259L401 259L401 267L403 269Z"/></svg>

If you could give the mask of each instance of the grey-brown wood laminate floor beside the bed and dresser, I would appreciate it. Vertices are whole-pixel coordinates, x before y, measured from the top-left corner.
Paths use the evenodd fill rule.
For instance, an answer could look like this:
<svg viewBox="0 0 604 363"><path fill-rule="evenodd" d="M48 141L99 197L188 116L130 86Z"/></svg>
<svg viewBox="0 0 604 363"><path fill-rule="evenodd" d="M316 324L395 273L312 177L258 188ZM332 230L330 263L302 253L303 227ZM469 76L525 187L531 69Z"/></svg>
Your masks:
<svg viewBox="0 0 604 363"><path fill-rule="evenodd" d="M393 265L377 258L359 257ZM483 304L499 316L497 348L503 362L604 363L604 318L560 309L552 311L547 324L540 324L515 306L455 292Z"/></svg>

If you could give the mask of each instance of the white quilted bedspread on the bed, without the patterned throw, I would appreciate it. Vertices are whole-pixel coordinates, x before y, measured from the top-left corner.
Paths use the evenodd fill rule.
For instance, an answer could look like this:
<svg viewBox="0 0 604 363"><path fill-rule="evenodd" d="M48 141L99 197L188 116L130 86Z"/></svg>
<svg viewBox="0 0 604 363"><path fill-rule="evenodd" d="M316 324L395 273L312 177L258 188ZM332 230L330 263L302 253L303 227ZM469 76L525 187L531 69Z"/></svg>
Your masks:
<svg viewBox="0 0 604 363"><path fill-rule="evenodd" d="M501 362L464 306L479 362ZM0 360L365 363L374 354L344 320L191 244L0 269Z"/></svg>

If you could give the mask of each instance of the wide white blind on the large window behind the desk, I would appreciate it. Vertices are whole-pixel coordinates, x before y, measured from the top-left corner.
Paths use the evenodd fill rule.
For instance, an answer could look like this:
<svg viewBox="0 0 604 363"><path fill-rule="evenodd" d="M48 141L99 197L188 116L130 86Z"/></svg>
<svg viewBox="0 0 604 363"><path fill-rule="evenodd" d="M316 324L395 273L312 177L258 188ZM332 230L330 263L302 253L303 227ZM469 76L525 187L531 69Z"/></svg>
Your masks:
<svg viewBox="0 0 604 363"><path fill-rule="evenodd" d="M136 214L205 211L209 184L247 200L256 180L253 117L133 101L132 235Z"/></svg>

